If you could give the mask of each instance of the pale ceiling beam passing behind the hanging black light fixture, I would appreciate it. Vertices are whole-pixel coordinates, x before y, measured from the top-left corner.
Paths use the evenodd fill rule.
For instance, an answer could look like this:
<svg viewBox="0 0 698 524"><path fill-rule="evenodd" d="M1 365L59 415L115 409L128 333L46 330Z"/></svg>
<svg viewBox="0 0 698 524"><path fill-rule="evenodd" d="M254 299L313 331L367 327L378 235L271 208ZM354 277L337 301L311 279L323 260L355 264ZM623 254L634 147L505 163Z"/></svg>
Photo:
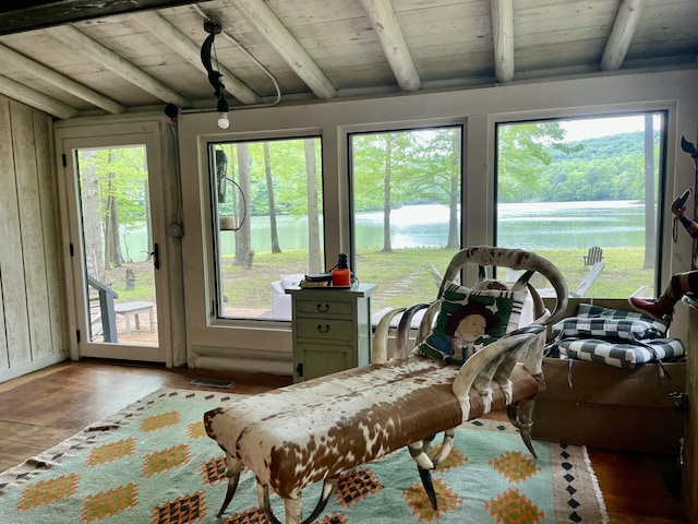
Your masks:
<svg viewBox="0 0 698 524"><path fill-rule="evenodd" d="M158 37L163 43L180 55L192 66L204 73L206 79L206 68L201 61L201 45L195 44L186 37L181 31L170 24L155 11L141 12L131 15L137 20L153 35ZM202 21L203 27L203 21ZM222 83L226 91L234 96L242 104L260 104L262 98L252 91L244 82L232 74L228 69L218 64L218 72L222 75ZM207 80L206 80L207 82ZM212 97L212 100L214 98Z"/></svg>

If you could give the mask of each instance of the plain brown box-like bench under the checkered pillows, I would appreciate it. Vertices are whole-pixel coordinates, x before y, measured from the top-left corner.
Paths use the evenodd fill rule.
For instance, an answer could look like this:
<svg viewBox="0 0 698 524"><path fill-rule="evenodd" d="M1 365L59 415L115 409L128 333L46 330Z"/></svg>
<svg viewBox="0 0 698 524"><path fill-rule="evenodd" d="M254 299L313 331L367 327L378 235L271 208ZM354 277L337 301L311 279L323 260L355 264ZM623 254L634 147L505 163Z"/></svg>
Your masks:
<svg viewBox="0 0 698 524"><path fill-rule="evenodd" d="M664 378L657 364L629 370L545 358L546 391L535 402L533 439L678 454L685 416L670 393L686 391L686 362L663 366L669 374Z"/></svg>

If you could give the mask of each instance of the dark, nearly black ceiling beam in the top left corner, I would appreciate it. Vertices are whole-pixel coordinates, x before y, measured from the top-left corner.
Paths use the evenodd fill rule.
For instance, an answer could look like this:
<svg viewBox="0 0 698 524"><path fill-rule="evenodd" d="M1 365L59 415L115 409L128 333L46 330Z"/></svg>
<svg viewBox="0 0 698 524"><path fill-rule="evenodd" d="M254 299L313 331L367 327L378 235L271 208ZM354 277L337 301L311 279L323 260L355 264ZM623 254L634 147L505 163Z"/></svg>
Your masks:
<svg viewBox="0 0 698 524"><path fill-rule="evenodd" d="M98 19L111 14L171 8L191 0L24 0L0 4L0 35Z"/></svg>

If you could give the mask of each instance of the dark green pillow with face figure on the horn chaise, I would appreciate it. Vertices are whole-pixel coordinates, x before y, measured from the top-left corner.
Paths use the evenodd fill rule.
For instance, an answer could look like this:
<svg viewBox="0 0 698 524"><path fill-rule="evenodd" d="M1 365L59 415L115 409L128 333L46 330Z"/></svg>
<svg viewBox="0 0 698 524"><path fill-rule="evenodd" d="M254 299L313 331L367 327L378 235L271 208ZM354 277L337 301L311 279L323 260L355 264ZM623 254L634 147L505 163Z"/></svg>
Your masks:
<svg viewBox="0 0 698 524"><path fill-rule="evenodd" d="M470 289L447 282L436 323L418 346L419 353L461 365L518 327L526 295L526 289Z"/></svg>

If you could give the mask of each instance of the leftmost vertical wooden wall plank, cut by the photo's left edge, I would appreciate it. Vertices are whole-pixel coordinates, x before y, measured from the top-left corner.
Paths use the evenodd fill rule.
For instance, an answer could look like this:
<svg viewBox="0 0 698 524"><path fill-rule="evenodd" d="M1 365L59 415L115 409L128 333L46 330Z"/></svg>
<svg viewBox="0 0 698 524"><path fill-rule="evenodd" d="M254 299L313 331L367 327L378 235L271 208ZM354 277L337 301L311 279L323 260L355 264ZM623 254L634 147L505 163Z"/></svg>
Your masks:
<svg viewBox="0 0 698 524"><path fill-rule="evenodd" d="M13 103L14 104L14 103ZM11 103L0 97L0 269L2 274L2 305L4 308L4 333L9 367L32 360L22 239L20 235L20 210Z"/></svg>

